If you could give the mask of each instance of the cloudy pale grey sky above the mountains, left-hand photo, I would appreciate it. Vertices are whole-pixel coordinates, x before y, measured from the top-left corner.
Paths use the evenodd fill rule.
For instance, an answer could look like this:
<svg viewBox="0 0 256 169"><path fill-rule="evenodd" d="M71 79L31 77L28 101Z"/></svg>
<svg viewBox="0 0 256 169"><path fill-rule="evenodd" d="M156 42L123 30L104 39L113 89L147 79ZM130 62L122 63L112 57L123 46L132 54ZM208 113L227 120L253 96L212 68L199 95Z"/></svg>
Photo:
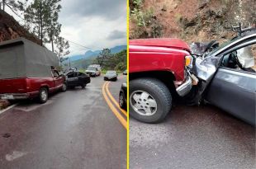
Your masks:
<svg viewBox="0 0 256 169"><path fill-rule="evenodd" d="M60 35L65 39L91 49L126 45L126 0L62 0L60 4ZM69 45L69 55L86 52L71 42Z"/></svg>

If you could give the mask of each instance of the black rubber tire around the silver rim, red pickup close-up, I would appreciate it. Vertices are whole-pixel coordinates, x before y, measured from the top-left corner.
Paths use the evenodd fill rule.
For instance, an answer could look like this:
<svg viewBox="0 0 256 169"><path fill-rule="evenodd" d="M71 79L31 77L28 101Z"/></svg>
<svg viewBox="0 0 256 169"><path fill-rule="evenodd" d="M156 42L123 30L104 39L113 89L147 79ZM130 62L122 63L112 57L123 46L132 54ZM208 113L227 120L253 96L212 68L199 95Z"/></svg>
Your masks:
<svg viewBox="0 0 256 169"><path fill-rule="evenodd" d="M130 115L136 120L140 120L145 123L154 124L164 120L172 107L172 95L168 90L168 87L166 87L163 82L155 78L137 78L130 81L130 96L135 91L148 92L149 95L153 96L157 102L157 110L154 115L145 116L140 115L132 108L132 106L129 106Z"/></svg>

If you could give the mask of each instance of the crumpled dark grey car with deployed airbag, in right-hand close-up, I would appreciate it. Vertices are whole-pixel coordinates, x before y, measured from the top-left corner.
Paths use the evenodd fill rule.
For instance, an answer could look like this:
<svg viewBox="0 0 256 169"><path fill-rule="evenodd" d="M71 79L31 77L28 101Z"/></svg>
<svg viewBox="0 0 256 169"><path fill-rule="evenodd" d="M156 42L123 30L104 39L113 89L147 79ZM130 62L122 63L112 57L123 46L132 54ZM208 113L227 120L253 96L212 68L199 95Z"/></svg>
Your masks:
<svg viewBox="0 0 256 169"><path fill-rule="evenodd" d="M193 66L199 83L193 87L190 100L195 104L207 101L255 125L255 60L256 30L240 31L225 44L204 51Z"/></svg>

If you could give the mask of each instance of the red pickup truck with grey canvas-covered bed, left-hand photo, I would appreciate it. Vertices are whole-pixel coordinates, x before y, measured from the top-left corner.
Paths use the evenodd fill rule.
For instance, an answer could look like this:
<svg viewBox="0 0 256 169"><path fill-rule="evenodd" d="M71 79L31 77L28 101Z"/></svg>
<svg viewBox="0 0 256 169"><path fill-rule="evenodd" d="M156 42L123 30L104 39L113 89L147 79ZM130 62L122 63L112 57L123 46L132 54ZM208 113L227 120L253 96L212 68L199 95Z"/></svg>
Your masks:
<svg viewBox="0 0 256 169"><path fill-rule="evenodd" d="M45 103L50 92L66 91L58 65L56 54L24 38L0 43L0 99L38 97Z"/></svg>

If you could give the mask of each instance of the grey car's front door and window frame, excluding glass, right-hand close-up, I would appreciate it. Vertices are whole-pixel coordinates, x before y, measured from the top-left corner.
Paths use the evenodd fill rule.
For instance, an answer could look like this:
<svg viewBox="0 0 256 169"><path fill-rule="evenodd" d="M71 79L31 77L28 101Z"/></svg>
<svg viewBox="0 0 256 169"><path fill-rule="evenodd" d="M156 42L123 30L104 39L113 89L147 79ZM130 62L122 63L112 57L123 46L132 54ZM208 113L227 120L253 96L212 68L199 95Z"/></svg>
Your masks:
<svg viewBox="0 0 256 169"><path fill-rule="evenodd" d="M233 66L230 68L231 66L226 63L230 54L237 54L239 49L245 47L252 47L251 49L254 50L252 54L256 59L254 41L252 41L253 44L247 42L247 45L236 46L223 54L220 67L207 88L206 100L249 124L255 125L256 73L253 70L248 71ZM256 68L255 63L254 68Z"/></svg>

